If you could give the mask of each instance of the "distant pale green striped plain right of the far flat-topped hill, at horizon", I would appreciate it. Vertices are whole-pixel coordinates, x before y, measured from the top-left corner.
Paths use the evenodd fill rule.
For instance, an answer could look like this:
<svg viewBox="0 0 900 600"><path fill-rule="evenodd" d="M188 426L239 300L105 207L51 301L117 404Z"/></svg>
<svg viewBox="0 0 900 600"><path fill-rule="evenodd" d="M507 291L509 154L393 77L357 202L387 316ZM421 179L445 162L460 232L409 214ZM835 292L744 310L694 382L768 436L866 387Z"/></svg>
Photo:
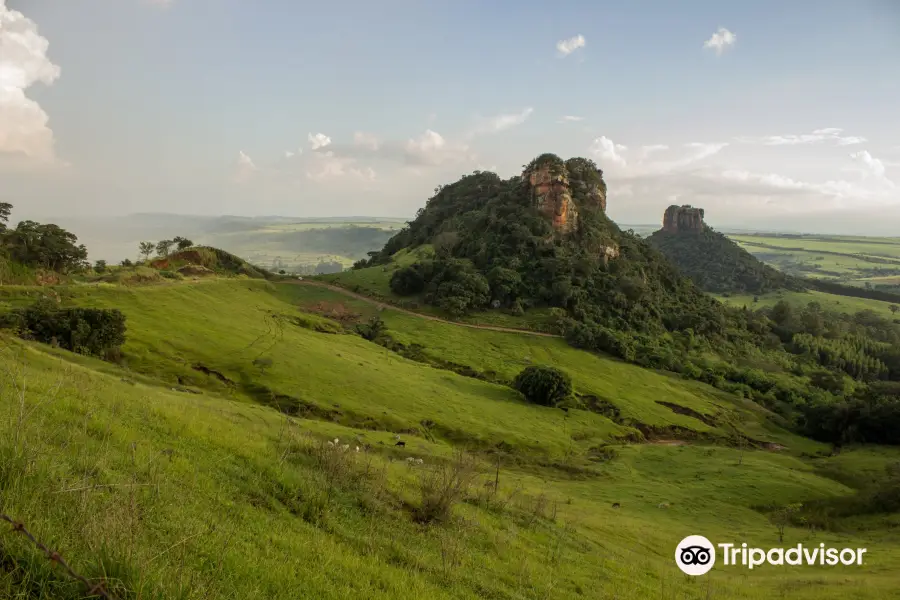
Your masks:
<svg viewBox="0 0 900 600"><path fill-rule="evenodd" d="M900 238L729 235L781 271L850 285L900 285Z"/></svg>

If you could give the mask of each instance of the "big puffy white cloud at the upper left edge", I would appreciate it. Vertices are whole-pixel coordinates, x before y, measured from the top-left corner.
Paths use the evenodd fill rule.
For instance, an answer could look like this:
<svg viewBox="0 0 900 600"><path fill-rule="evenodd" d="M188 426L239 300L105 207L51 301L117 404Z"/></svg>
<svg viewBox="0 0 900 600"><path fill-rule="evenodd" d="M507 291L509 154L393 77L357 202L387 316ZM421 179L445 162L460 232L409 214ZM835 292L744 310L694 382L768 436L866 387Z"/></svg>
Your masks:
<svg viewBox="0 0 900 600"><path fill-rule="evenodd" d="M54 160L49 117L25 95L35 83L52 85L60 75L47 57L49 45L34 21L0 0L0 155Z"/></svg>

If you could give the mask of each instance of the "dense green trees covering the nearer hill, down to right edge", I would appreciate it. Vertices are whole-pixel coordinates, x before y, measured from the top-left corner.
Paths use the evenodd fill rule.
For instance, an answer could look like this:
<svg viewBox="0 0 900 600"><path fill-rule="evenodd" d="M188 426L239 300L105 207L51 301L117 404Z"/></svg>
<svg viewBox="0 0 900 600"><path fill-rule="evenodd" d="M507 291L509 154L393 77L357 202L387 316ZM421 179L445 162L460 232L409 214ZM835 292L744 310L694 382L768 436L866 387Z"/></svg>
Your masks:
<svg viewBox="0 0 900 600"><path fill-rule="evenodd" d="M600 177L590 161L564 163L552 155L532 161L525 175L548 163L567 173L576 191L587 187L585 172ZM900 434L891 433L900 432L900 394L878 383L900 381L896 323L871 311L831 313L814 303L800 310L784 302L757 311L727 308L583 196L573 194L577 228L554 231L533 205L525 176L502 180L475 172L435 192L415 220L356 268L386 265L400 250L428 244L433 258L391 275L395 294L418 296L451 315L552 307L559 311L557 329L573 346L750 398L818 439L900 443ZM703 234L701 242L689 243L695 271L708 258L724 261L709 265L707 285L795 285L718 233ZM606 260L610 246L619 255Z"/></svg>

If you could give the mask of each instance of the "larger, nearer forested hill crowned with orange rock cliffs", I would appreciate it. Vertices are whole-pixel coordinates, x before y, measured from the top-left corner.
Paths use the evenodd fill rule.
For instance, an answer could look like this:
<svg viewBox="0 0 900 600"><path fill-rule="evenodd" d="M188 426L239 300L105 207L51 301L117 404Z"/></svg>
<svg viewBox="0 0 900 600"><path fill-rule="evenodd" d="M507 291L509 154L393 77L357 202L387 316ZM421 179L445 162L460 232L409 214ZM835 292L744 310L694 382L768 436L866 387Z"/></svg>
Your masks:
<svg viewBox="0 0 900 600"><path fill-rule="evenodd" d="M544 154L521 176L475 172L439 188L357 267L428 245L434 258L393 274L391 289L454 314L556 307L615 331L721 331L718 303L605 210L606 184L592 161Z"/></svg>

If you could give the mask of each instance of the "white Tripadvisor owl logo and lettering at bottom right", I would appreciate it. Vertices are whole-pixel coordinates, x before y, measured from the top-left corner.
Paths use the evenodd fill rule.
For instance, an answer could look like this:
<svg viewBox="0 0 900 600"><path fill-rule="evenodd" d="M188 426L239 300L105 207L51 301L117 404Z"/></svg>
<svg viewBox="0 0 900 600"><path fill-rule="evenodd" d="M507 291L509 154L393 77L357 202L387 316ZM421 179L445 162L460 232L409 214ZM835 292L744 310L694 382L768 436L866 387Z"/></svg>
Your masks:
<svg viewBox="0 0 900 600"><path fill-rule="evenodd" d="M751 548L747 544L713 544L702 535L689 535L675 549L675 564L688 575L704 575L716 564L716 548L726 567L753 569L764 564L782 565L862 565L865 548L826 548L825 544L791 548Z"/></svg>

